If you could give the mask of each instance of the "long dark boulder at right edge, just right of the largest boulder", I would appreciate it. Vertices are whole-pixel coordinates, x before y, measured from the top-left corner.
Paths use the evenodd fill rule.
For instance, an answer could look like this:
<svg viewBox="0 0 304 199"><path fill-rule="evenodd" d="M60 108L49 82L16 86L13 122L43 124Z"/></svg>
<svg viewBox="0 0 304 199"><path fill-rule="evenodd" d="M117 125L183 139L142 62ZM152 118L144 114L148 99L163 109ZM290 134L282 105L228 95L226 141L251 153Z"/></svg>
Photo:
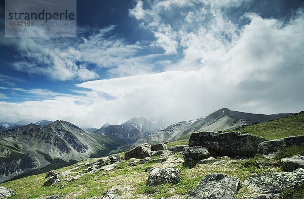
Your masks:
<svg viewBox="0 0 304 199"><path fill-rule="evenodd" d="M264 141L258 144L257 151L260 154L268 155L276 153L283 148L290 146L304 145L304 135L285 137L281 139L274 139L271 141Z"/></svg>

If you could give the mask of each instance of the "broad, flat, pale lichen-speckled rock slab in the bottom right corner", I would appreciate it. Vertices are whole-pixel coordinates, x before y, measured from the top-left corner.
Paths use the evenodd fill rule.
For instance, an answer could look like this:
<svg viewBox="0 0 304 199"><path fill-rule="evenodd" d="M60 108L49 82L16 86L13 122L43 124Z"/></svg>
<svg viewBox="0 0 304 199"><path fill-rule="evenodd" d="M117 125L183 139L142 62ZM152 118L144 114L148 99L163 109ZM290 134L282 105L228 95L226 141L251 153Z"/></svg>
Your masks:
<svg viewBox="0 0 304 199"><path fill-rule="evenodd" d="M293 172L265 172L254 174L244 181L250 188L261 193L281 193L292 189L304 181L304 169Z"/></svg>

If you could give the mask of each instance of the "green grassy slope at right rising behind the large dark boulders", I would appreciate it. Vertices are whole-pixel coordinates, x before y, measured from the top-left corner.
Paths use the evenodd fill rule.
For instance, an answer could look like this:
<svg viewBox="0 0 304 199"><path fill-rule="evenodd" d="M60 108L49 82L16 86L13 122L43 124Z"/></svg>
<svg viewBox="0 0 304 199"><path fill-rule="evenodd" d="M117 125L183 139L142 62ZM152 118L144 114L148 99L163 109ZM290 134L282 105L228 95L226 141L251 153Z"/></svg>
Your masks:
<svg viewBox="0 0 304 199"><path fill-rule="evenodd" d="M245 132L258 135L267 140L304 134L304 113L275 119L269 122L254 124L229 131Z"/></svg>

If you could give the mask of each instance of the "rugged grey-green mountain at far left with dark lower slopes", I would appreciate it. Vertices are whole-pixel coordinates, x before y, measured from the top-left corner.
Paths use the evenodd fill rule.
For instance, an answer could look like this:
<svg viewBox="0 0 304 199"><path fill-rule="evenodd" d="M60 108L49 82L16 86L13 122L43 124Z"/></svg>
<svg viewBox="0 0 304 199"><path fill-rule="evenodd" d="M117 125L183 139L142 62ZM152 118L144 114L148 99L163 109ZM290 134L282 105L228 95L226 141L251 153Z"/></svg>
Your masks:
<svg viewBox="0 0 304 199"><path fill-rule="evenodd" d="M104 156L125 144L59 120L45 126L28 124L4 130L0 132L0 182L34 170Z"/></svg>

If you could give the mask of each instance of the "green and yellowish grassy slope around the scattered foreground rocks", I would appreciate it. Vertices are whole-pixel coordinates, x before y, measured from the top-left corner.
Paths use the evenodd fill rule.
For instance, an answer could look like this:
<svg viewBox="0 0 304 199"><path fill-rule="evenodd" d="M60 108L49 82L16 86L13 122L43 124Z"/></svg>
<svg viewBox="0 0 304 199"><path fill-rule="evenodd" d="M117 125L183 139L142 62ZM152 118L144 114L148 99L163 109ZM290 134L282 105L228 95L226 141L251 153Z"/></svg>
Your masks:
<svg viewBox="0 0 304 199"><path fill-rule="evenodd" d="M299 114L279 120L273 120L271 122L255 124L253 126L242 128L241 130L238 129L238 131L245 131L267 139L276 139L304 134L303 127L304 114ZM187 144L187 142L171 142L167 145L172 146L183 144ZM301 147L284 153L290 156L299 152L302 153L303 151L304 147ZM282 156L282 154L280 156ZM175 154L175 157L182 158L180 154ZM94 160L95 159L91 159L89 161ZM266 160L259 155L251 160L224 160L219 164L213 164L213 162L214 161L205 164L197 164L193 168L179 164L177 167L182 172L182 178L176 185L163 184L157 187L146 187L145 183L148 172L146 172L145 169L162 163L131 166L130 161L124 161L119 163L118 167L113 171L98 171L96 173L83 176L74 182L59 182L53 187L42 187L42 184L46 180L44 179L45 173L6 182L0 184L0 186L12 188L18 193L16 196L11 198L46 198L47 196L54 194L64 196L64 198L92 198L93 196L102 195L105 190L112 188L113 186L130 187L129 190L118 191L117 194L121 195L122 198L142 198L143 194L152 198L161 198L162 196L168 197L172 195L185 198L189 191L197 185L200 179L208 173L225 173L231 177L238 177L241 181L244 181L254 173L282 171L278 164L278 160ZM56 171L65 171L72 167L73 166L61 168ZM59 188L59 186L63 184L65 184L65 186L63 188ZM296 190L298 195L303 195L303 188L304 187L299 187ZM235 198L244 198L244 196L249 196L254 193L255 192L249 187L243 186ZM289 192L285 195L287 195L285 198L292 198ZM304 196L296 196L294 198L304 198Z"/></svg>

